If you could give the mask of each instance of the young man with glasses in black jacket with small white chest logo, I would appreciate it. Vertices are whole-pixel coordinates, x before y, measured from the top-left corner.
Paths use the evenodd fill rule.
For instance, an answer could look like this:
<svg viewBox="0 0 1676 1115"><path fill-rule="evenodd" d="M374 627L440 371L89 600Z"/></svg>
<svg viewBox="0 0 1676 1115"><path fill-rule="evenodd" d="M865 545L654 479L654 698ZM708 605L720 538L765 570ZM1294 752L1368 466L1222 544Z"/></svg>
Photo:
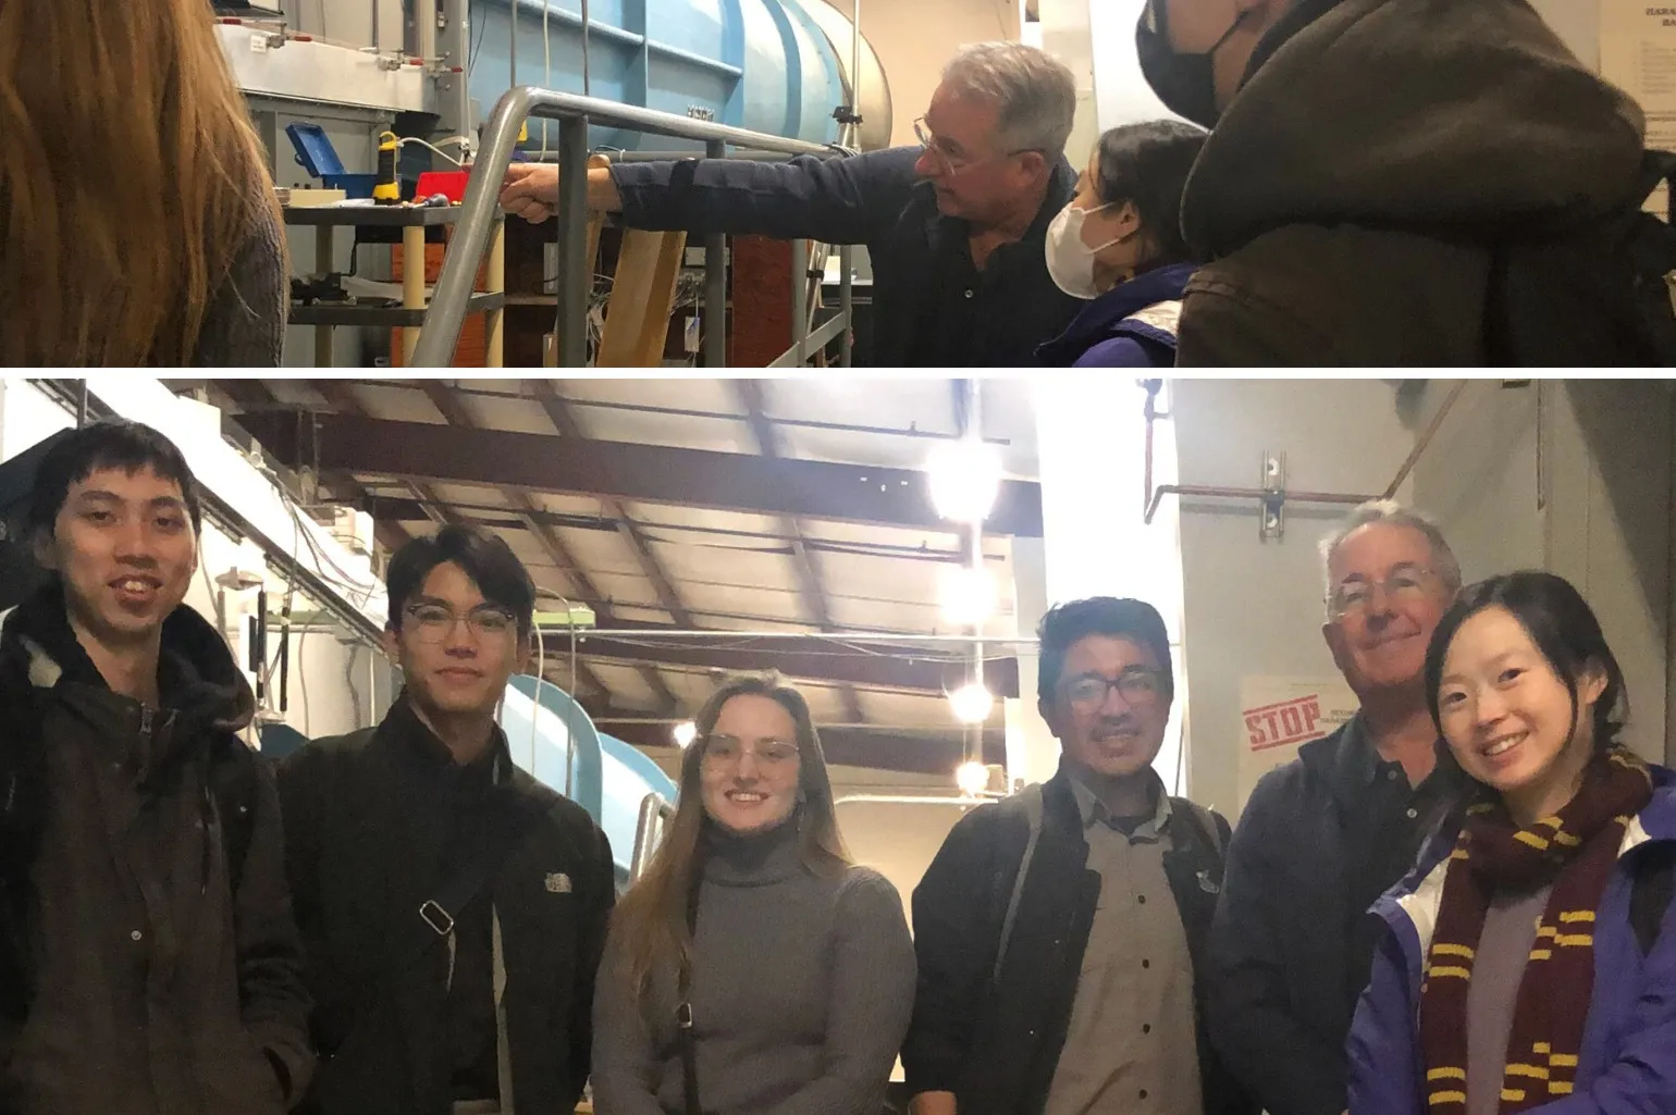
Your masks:
<svg viewBox="0 0 1676 1115"><path fill-rule="evenodd" d="M387 583L402 693L280 772L322 1055L310 1110L570 1112L617 891L605 834L494 723L535 586L463 526L397 551Z"/></svg>

